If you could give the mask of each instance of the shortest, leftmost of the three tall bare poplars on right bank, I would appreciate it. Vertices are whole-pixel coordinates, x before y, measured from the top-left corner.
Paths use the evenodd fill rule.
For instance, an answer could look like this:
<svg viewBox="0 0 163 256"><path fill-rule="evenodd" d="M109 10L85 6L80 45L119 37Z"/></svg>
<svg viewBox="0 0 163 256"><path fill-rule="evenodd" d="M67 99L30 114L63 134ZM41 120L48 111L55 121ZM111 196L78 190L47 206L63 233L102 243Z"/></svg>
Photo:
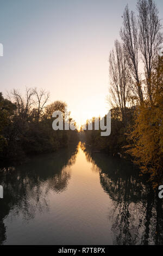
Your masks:
<svg viewBox="0 0 163 256"><path fill-rule="evenodd" d="M120 108L124 121L129 97L130 76L124 49L118 40L115 41L115 50L110 52L109 73L110 92L114 102L112 105L115 104Z"/></svg>

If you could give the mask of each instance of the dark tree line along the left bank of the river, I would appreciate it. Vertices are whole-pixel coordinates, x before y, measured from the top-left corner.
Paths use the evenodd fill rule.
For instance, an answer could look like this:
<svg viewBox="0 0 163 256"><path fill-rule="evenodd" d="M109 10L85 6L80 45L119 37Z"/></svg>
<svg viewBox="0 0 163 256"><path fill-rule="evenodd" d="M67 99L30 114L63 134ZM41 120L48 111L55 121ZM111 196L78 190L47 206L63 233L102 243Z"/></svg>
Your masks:
<svg viewBox="0 0 163 256"><path fill-rule="evenodd" d="M22 162L29 154L52 152L78 141L77 130L53 130L52 114L65 111L67 104L48 104L49 93L38 88L26 88L0 93L0 159L1 164ZM54 119L54 118L53 118ZM65 122L72 121L72 118Z"/></svg>

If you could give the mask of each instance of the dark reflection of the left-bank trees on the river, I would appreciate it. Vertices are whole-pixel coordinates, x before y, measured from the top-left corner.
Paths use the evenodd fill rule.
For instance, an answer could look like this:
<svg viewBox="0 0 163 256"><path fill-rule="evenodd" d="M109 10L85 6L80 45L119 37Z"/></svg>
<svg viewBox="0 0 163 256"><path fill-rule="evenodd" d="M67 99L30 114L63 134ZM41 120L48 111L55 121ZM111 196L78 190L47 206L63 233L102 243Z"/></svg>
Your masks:
<svg viewBox="0 0 163 256"><path fill-rule="evenodd" d="M76 161L77 146L30 159L17 168L0 170L4 199L0 200L0 245L7 239L3 219L9 215L34 218L35 212L48 211L49 190L61 193L67 187L67 170Z"/></svg>

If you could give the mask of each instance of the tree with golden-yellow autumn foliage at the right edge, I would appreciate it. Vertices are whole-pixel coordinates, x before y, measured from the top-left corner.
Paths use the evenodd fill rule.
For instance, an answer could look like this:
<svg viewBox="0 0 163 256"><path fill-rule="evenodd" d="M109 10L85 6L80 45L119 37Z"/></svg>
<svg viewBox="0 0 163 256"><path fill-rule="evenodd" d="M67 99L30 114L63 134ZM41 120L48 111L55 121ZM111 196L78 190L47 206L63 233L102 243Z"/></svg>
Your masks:
<svg viewBox="0 0 163 256"><path fill-rule="evenodd" d="M148 173L155 188L163 174L163 57L159 57L151 75L153 102L149 98L137 107L135 123L128 135L135 163Z"/></svg>

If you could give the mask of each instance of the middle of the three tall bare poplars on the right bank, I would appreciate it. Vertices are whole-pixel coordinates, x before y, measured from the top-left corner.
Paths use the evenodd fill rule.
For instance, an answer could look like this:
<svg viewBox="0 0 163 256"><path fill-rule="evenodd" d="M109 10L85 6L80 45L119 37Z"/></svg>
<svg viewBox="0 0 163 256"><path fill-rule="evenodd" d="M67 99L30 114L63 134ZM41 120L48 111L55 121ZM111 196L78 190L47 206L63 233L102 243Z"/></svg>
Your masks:
<svg viewBox="0 0 163 256"><path fill-rule="evenodd" d="M141 103L143 102L143 93L139 75L139 33L134 12L129 11L128 5L124 9L123 27L121 28L120 35L126 52L130 73L134 80L131 90L137 98L137 102Z"/></svg>

